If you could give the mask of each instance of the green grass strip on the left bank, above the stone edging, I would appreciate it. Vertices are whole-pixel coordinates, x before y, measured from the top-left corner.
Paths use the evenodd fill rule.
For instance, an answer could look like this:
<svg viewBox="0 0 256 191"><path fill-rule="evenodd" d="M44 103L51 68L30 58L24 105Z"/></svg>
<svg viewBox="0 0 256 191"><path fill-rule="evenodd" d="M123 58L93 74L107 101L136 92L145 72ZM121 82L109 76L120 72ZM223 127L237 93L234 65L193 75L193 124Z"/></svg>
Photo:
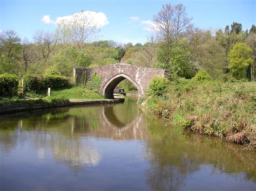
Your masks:
<svg viewBox="0 0 256 191"><path fill-rule="evenodd" d="M9 103L56 103L69 100L103 100L104 96L94 91L87 90L84 87L72 87L67 89L52 90L50 97L47 96L46 92L41 94L25 94L24 98L11 97L2 98L0 105Z"/></svg>

